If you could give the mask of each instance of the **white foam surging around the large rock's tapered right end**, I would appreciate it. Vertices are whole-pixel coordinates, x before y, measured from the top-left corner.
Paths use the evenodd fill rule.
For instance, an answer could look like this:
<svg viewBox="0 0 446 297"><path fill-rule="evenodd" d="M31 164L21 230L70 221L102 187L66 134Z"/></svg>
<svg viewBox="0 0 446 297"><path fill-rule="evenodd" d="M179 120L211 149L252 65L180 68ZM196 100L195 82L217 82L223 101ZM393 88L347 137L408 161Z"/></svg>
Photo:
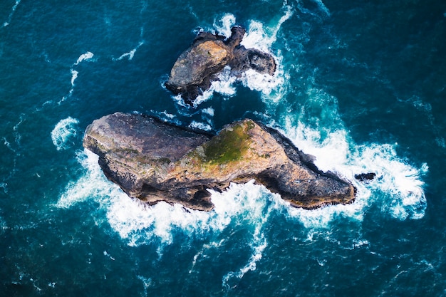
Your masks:
<svg viewBox="0 0 446 297"><path fill-rule="evenodd" d="M294 127L289 122L284 134L296 147L316 157L315 165L323 171L336 172L353 182L357 188L356 202L348 205L333 205L312 211L289 209L292 217L298 217L307 227L328 226L338 216L362 221L365 207L375 202L383 205L383 212L396 219L420 219L425 214L426 199L422 189L420 169L400 159L395 145L349 144L345 130L321 132L299 122ZM375 179L358 182L355 174L373 172Z"/></svg>

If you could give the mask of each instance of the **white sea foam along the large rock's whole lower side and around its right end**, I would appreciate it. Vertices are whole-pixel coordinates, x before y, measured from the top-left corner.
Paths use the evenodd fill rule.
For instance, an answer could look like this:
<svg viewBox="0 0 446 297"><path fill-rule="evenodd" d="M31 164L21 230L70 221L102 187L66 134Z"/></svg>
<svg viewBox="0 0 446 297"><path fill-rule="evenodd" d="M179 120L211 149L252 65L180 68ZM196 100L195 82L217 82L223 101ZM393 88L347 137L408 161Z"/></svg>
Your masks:
<svg viewBox="0 0 446 297"><path fill-rule="evenodd" d="M178 231L204 239L208 234L222 232L227 228L237 228L239 225L247 227L251 230L248 237L251 255L239 269L224 274L222 283L226 288L237 285L238 280L247 271L255 270L256 264L261 261L269 245L264 236L264 226L271 214L285 214L286 218L301 222L308 229L309 240L318 233L317 230L328 229L333 221L340 218L361 223L365 209L377 199L380 199L379 204L385 205L383 211L397 219L418 219L423 216L425 198L420 174L427 172L427 165L416 170L396 156L392 145L352 148L343 130L321 137L318 135L320 132L299 123L297 127L287 125L284 133L296 146L315 155L318 167L338 172L341 177L351 180L358 189L356 202L315 210L299 209L290 207L279 195L271 194L251 181L247 184L231 184L221 193L209 190L215 205L212 212L194 211L165 202L148 207L138 200L130 199L116 184L108 181L100 170L98 156L85 150L78 157L85 167L85 174L78 181L68 184L56 206L71 207L78 202L93 199L105 210L108 224L130 246L158 243L160 257L163 246L172 244ZM356 181L354 174L363 172L375 172L377 177L370 182ZM355 238L348 248L367 244L368 241ZM197 252L192 261L191 273L203 255L204 250Z"/></svg>

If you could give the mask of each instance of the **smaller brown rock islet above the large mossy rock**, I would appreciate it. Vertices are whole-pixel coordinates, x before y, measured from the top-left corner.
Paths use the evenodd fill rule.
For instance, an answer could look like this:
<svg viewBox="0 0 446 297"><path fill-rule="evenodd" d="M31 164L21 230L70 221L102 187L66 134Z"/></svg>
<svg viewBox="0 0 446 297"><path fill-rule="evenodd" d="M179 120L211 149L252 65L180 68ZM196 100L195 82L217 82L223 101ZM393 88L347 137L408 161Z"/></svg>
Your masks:
<svg viewBox="0 0 446 297"><path fill-rule="evenodd" d="M218 80L225 66L229 66L232 75L236 76L248 69L273 75L276 71L273 56L241 46L244 28L234 26L231 31L232 35L226 41L224 36L200 32L192 46L178 57L172 67L169 80L165 83L167 89L181 94L185 103L192 104L198 95L210 87L212 81Z"/></svg>

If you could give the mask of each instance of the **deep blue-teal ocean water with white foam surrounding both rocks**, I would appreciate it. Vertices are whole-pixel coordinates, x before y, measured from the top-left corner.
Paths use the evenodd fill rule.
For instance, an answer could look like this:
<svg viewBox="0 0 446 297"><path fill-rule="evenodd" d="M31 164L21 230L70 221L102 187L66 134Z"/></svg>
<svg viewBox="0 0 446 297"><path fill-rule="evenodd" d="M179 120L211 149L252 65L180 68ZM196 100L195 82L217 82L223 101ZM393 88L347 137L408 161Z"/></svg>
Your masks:
<svg viewBox="0 0 446 297"><path fill-rule="evenodd" d="M235 24L276 73L185 106L177 56ZM446 296L445 41L440 0L1 1L0 296ZM82 147L117 111L260 120L358 197L308 211L251 181L146 207Z"/></svg>

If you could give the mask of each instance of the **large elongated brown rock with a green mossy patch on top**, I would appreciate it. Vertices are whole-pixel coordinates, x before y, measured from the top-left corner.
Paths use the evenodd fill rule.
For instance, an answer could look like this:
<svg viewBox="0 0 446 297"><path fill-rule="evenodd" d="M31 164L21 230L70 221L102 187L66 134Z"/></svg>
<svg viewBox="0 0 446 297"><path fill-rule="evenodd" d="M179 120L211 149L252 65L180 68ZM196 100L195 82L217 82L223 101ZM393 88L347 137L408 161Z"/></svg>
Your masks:
<svg viewBox="0 0 446 297"><path fill-rule="evenodd" d="M83 145L99 155L110 180L148 204L166 201L210 210L207 189L250 179L306 209L355 198L352 184L321 172L312 156L253 120L232 123L212 136L144 115L115 113L93 121Z"/></svg>

